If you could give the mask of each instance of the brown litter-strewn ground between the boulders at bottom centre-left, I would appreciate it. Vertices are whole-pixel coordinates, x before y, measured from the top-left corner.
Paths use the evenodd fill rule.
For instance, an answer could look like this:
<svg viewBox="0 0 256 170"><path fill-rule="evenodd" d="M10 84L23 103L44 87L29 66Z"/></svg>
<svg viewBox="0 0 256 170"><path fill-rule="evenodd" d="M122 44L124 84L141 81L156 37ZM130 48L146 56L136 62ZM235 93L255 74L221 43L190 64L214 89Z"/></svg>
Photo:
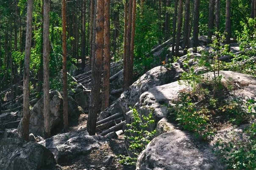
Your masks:
<svg viewBox="0 0 256 170"><path fill-rule="evenodd" d="M81 114L78 119L70 122L70 132L86 127L87 114ZM90 154L80 155L69 162L60 163L63 170L122 170L127 169L118 162L118 155L127 154L125 150L124 135L118 138L109 139L108 142L100 146L99 149L92 150ZM103 158L113 155L114 158L109 165L103 163Z"/></svg>

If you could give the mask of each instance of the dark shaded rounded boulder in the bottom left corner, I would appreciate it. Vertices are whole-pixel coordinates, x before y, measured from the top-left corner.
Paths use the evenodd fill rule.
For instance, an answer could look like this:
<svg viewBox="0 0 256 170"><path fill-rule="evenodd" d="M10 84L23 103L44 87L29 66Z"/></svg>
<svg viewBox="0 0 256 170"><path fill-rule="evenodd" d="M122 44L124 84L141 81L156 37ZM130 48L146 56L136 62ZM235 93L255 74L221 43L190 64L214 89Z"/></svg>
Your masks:
<svg viewBox="0 0 256 170"><path fill-rule="evenodd" d="M44 146L20 138L0 140L1 170L56 170L53 154Z"/></svg>

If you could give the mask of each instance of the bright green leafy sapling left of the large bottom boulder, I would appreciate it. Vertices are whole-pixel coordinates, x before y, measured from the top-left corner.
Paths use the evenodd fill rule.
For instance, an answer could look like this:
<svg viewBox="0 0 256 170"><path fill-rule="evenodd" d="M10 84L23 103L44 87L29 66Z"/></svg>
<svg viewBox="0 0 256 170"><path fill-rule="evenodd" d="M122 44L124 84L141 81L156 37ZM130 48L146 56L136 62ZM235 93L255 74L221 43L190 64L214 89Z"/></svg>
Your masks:
<svg viewBox="0 0 256 170"><path fill-rule="evenodd" d="M135 155L135 157L121 156L120 163L124 165L135 165L139 153L146 148L147 144L156 134L156 130L150 130L150 126L155 122L153 119L153 110L148 116L140 116L136 108L133 108L132 110L132 123L126 124L128 129L125 130L125 138L130 143L128 149Z"/></svg>

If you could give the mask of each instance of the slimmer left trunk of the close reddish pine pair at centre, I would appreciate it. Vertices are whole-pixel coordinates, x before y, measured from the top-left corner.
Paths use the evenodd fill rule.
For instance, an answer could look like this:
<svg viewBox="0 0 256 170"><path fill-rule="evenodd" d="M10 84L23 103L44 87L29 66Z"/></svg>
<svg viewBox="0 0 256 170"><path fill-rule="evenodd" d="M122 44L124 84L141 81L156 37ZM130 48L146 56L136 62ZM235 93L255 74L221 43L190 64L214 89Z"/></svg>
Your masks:
<svg viewBox="0 0 256 170"><path fill-rule="evenodd" d="M125 90L125 82L127 81L127 77L126 77L126 72L125 72L125 69L126 69L126 53L127 53L127 10L128 10L128 5L127 5L127 1L125 0L125 9L124 9L124 12L125 12L125 25L124 25L124 55L123 55L123 68L124 68L124 71L123 71L123 89Z"/></svg>

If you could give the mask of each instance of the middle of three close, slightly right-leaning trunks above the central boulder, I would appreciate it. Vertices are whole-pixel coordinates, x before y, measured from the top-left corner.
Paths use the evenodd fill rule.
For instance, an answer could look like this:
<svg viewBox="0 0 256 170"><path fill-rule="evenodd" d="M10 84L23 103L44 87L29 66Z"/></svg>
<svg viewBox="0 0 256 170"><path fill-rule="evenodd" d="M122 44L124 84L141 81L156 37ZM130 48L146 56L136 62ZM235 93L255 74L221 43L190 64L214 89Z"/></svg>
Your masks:
<svg viewBox="0 0 256 170"><path fill-rule="evenodd" d="M178 26L177 26L177 35L176 35L176 46L175 46L175 55L179 54L179 46L181 39L181 28L182 28L182 13L183 13L183 1L179 0L179 10L178 10Z"/></svg>

